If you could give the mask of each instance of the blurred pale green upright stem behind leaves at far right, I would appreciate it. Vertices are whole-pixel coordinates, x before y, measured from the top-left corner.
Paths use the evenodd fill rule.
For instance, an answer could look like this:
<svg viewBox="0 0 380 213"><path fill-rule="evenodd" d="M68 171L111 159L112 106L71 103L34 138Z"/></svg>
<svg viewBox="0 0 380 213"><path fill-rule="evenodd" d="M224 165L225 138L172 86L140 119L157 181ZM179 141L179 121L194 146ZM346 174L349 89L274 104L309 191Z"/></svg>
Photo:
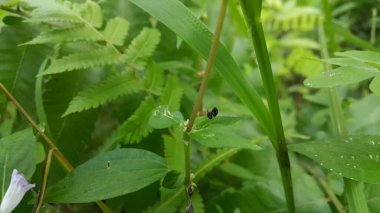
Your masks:
<svg viewBox="0 0 380 213"><path fill-rule="evenodd" d="M327 35L333 36L333 33L329 32L331 31L331 28L328 27L329 23L332 23L330 6L327 0L323 0L322 3L323 3L324 12L325 12L325 17L327 18L324 27L328 30ZM320 39L320 44L321 44L321 56L324 59L329 58L329 51L327 49L325 32L322 26L319 26L318 32L319 32L319 39ZM332 43L330 44L330 47L336 47L336 45ZM334 48L330 48L330 51L334 51ZM324 68L326 72L331 69L331 65L326 63ZM335 87L329 88L329 97L330 97L330 104L331 104L332 120L333 120L335 129L337 130L338 134L341 136L348 135L348 130L347 130L346 122L344 120L342 107L339 103L339 99L338 99L338 95L337 95L337 91ZM345 195L347 197L348 207L349 207L350 212L354 212L354 213L369 212L366 198L364 195L364 185L362 182L357 182L355 180L344 178L344 188L345 188Z"/></svg>

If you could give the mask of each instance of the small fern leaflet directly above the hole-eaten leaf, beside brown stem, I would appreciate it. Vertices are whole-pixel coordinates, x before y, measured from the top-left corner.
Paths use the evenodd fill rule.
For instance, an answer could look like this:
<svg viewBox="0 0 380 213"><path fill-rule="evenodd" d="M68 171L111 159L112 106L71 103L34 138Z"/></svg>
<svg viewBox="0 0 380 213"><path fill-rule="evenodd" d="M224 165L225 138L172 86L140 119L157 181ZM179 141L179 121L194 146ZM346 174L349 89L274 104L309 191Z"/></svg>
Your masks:
<svg viewBox="0 0 380 213"><path fill-rule="evenodd" d="M167 80L163 95L160 97L160 105L168 105L172 111L177 111L181 105L183 88L174 76L170 76Z"/></svg>

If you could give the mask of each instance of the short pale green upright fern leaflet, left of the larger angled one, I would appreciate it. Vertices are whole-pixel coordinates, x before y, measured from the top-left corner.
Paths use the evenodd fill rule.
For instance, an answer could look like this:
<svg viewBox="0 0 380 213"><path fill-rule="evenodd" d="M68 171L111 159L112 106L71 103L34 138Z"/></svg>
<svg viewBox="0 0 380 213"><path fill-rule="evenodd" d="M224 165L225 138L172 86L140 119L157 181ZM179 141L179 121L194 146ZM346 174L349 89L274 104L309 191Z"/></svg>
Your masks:
<svg viewBox="0 0 380 213"><path fill-rule="evenodd" d="M110 43L121 46L127 37L129 22L123 18L114 18L108 21L103 32L104 37Z"/></svg>

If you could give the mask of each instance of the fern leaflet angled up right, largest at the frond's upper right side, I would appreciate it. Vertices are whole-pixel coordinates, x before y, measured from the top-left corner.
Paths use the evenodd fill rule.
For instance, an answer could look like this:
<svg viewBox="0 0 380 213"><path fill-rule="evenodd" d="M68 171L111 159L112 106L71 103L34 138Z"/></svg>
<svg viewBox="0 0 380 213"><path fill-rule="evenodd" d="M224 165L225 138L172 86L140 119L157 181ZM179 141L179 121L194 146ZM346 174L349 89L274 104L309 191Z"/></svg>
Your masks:
<svg viewBox="0 0 380 213"><path fill-rule="evenodd" d="M140 34L133 39L126 50L125 58L130 66L135 69L144 69L149 57L153 55L161 34L157 29L144 28Z"/></svg>

